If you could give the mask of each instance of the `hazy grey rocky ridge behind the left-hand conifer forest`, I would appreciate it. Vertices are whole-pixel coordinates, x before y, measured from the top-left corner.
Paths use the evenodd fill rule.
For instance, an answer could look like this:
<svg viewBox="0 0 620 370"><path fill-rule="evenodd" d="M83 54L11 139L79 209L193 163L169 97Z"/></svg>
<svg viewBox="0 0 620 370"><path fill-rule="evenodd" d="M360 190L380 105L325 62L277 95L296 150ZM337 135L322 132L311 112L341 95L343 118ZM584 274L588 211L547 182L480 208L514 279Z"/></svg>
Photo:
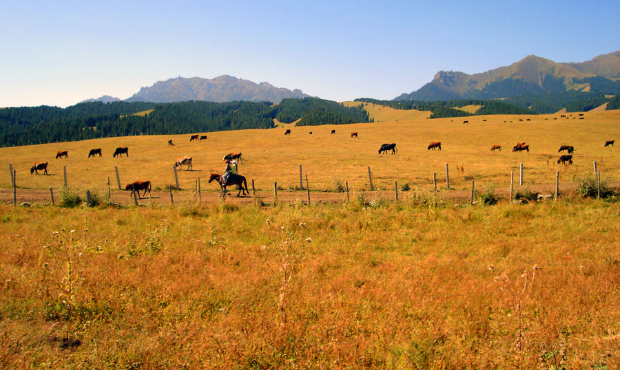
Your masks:
<svg viewBox="0 0 620 370"><path fill-rule="evenodd" d="M233 76L207 78L170 78L158 81L151 87L142 87L127 102L183 102L204 100L209 102L231 102L235 100L279 103L286 98L307 98L299 89L289 90L274 87L269 83L254 83Z"/></svg>

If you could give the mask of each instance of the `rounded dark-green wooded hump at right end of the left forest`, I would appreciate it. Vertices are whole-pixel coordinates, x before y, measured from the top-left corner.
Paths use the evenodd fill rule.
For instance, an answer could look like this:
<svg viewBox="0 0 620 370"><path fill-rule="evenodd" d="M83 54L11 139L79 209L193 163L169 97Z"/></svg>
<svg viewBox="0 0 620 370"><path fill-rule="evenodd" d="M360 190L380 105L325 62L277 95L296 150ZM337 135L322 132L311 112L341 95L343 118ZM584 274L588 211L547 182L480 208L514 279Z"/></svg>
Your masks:
<svg viewBox="0 0 620 370"><path fill-rule="evenodd" d="M278 121L291 123L300 120L298 126L317 126L319 124L349 124L371 122L361 107L344 107L331 100L318 98L284 99L278 106Z"/></svg>

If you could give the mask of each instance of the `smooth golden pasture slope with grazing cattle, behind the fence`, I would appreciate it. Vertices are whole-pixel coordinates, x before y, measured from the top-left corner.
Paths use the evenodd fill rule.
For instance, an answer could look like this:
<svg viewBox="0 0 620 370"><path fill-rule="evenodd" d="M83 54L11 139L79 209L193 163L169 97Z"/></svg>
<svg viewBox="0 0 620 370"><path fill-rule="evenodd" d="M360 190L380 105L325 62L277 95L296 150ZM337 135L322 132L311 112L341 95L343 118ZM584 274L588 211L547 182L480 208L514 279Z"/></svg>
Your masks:
<svg viewBox="0 0 620 370"><path fill-rule="evenodd" d="M376 117L381 120L381 116ZM588 112L583 117L578 119L577 113L568 119L555 114L475 116L467 118L468 124L462 124L462 118L421 118L291 127L292 133L287 136L285 129L242 130L208 133L208 140L193 142L189 135L144 135L0 148L0 189L10 190L8 166L12 164L20 191L61 188L63 165L72 187L103 191L110 177L114 189L114 166L118 166L123 186L148 179L154 190L161 190L169 184L174 186L172 166L183 155L193 157L196 171L179 171L180 186L194 189L198 177L204 181L209 173L223 171L222 158L232 152L241 152L244 157L240 174L249 182L254 179L256 187L265 191L273 188L273 182L283 190L297 188L300 164L313 191L333 191L338 179L349 182L353 191L369 190L368 166L375 188L386 190L393 189L394 181L412 187L432 186L433 173L444 184L446 163L451 169L451 187L462 191L471 186L471 178L478 189L507 187L510 171L518 178L521 162L524 186L555 184L556 171L560 172L561 184L574 182L592 173L593 161L597 161L603 179L620 179L620 149L603 148L606 140L619 139L620 111ZM330 134L332 129L335 135ZM357 131L359 137L351 138L351 131ZM169 146L168 139L175 145ZM433 141L442 142L442 151L426 149ZM381 144L391 142L397 144L397 154L379 155ZM516 142L530 144L530 152L513 153ZM493 144L502 145L502 151L491 152ZM562 144L575 146L570 166L557 164L557 150ZM129 147L129 156L113 158L117 146ZM102 148L103 157L87 158L94 148ZM56 160L60 150L68 150L69 159ZM49 162L50 175L31 175L34 162ZM217 186L203 184L203 191L215 193Z"/></svg>

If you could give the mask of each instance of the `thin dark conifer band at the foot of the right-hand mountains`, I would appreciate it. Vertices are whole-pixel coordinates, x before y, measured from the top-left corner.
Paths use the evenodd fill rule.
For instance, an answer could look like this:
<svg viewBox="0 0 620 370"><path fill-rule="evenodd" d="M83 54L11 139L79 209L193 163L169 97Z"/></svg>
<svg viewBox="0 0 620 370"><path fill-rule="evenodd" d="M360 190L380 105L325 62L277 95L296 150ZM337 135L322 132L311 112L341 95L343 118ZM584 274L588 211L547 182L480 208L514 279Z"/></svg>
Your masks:
<svg viewBox="0 0 620 370"><path fill-rule="evenodd" d="M417 109L419 111L431 111L430 118L468 117L483 114L536 114L536 112L506 104L497 100L459 99L440 100L428 102L423 100L377 100L369 98L355 99L356 102L368 102L376 105L385 105L393 109ZM480 105L476 113L468 113L457 107L466 105Z"/></svg>

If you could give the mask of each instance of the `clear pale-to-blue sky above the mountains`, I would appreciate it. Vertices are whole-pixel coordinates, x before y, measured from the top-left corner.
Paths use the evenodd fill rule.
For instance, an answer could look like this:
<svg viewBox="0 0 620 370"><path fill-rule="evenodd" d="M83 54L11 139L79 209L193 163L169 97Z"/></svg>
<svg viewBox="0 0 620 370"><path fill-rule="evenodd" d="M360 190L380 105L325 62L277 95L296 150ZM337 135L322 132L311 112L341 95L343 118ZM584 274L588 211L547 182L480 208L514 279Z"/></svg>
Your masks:
<svg viewBox="0 0 620 370"><path fill-rule="evenodd" d="M0 0L0 107L126 99L223 74L344 101L393 99L440 70L620 50L620 1Z"/></svg>

